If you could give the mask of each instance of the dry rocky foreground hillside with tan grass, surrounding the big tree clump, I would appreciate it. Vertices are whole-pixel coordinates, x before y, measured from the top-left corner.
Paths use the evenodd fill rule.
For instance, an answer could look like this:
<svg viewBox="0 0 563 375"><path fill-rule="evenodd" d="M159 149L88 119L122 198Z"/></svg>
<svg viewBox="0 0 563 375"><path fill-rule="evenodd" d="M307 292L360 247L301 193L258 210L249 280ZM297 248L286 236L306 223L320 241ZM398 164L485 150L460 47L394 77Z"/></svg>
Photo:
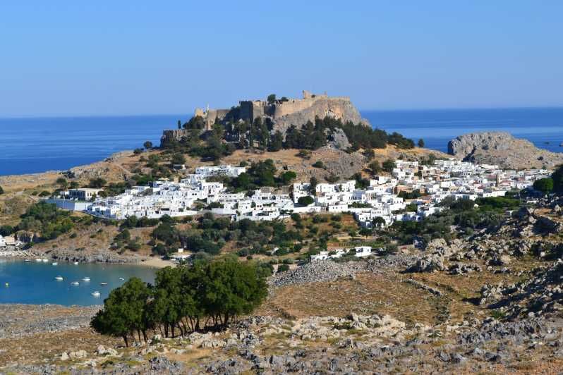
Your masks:
<svg viewBox="0 0 563 375"><path fill-rule="evenodd" d="M123 348L99 307L5 305L0 373L555 374L563 367L563 202L425 250L270 278L254 316Z"/></svg>

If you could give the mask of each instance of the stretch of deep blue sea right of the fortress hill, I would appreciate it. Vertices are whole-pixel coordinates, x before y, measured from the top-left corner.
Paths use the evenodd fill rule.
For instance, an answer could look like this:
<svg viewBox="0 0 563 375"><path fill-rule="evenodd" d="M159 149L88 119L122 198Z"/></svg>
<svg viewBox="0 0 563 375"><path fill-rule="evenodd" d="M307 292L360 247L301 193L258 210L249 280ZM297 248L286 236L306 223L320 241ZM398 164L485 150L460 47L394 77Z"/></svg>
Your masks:
<svg viewBox="0 0 563 375"><path fill-rule="evenodd" d="M447 143L464 134L506 131L536 147L563 152L563 108L444 109L424 111L363 111L374 128L398 132L425 147L447 152ZM549 142L549 143L547 143Z"/></svg>

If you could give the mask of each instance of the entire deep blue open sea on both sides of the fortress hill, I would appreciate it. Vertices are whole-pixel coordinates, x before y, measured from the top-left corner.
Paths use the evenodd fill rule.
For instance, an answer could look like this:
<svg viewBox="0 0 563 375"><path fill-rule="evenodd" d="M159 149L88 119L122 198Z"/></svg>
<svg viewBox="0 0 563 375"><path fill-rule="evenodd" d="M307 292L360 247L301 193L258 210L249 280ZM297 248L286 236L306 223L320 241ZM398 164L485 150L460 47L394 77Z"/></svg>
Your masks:
<svg viewBox="0 0 563 375"><path fill-rule="evenodd" d="M500 130L537 147L563 152L563 108L361 111L374 128L398 132L447 151L464 133ZM159 144L162 130L190 115L0 118L0 176L66 170L123 149Z"/></svg>

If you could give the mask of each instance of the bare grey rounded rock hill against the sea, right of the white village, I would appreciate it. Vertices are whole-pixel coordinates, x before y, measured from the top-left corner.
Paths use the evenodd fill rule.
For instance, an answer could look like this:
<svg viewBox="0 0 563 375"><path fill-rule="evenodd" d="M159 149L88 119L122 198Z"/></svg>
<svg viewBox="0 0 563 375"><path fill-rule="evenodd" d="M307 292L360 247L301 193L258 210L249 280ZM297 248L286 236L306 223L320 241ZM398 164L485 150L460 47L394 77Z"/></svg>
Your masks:
<svg viewBox="0 0 563 375"><path fill-rule="evenodd" d="M563 163L563 153L538 149L532 142L506 132L468 133L448 143L448 154L478 164L502 168L552 168Z"/></svg>

